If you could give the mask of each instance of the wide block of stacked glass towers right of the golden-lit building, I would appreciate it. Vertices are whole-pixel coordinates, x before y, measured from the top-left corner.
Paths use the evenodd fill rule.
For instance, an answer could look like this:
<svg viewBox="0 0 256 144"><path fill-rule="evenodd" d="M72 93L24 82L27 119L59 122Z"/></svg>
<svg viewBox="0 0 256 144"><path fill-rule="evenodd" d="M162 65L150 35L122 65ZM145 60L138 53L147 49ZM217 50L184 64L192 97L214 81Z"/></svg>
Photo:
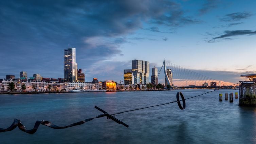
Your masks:
<svg viewBox="0 0 256 144"><path fill-rule="evenodd" d="M132 84L149 83L149 62L132 60Z"/></svg>

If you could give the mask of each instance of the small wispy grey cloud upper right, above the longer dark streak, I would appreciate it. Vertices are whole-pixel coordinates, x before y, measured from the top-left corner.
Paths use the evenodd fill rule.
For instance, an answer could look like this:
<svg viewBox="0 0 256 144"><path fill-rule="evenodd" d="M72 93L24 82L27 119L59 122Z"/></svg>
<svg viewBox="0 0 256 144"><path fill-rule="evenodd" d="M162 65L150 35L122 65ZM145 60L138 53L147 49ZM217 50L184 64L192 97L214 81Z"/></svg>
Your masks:
<svg viewBox="0 0 256 144"><path fill-rule="evenodd" d="M250 12L237 12L227 14L224 18L220 18L221 21L240 21L241 19L247 19L252 14Z"/></svg>

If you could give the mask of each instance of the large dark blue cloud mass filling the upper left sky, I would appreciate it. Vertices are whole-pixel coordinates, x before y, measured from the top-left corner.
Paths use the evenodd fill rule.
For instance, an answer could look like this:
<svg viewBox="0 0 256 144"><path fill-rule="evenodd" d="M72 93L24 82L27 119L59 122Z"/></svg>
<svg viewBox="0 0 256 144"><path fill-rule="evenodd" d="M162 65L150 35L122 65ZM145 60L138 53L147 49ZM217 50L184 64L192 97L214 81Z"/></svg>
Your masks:
<svg viewBox="0 0 256 144"><path fill-rule="evenodd" d="M0 5L0 67L8 64L8 73L24 70L29 76L63 77L63 49L68 44L76 48L78 67L85 68L123 55L121 45L128 43L124 37L144 22L165 26L200 22L166 0L2 0ZM47 72L53 69L56 73Z"/></svg>

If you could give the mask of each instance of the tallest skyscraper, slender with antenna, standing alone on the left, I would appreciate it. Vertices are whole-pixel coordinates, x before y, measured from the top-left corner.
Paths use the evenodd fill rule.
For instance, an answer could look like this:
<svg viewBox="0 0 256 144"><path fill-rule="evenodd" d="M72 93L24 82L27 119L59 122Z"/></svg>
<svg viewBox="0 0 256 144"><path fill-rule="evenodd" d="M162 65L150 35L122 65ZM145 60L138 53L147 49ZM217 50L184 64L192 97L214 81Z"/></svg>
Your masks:
<svg viewBox="0 0 256 144"><path fill-rule="evenodd" d="M76 82L77 80L75 48L64 49L64 80L68 82Z"/></svg>

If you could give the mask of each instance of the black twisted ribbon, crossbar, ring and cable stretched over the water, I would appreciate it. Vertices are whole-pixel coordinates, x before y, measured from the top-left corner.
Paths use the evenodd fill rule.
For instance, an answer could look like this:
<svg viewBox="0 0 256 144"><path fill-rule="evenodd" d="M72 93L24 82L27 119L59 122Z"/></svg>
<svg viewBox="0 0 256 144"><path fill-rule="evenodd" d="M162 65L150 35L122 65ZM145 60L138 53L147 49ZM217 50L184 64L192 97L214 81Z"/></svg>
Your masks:
<svg viewBox="0 0 256 144"><path fill-rule="evenodd" d="M239 84L239 83L236 83L236 84ZM233 85L236 85L236 84L233 84ZM230 85L230 86L233 86L233 85ZM222 88L219 88L219 89L222 89ZM195 97L198 97L198 96L202 96L202 95L205 95L205 94L208 94L210 92L213 92L213 91L217 91L219 89L215 89L215 90L212 90L212 91L209 91L209 92L205 92L203 94L200 94L200 95L196 95L196 96L193 96L193 97L189 97L189 98L184 98L183 94L181 92L177 92L176 94L176 101L171 101L171 102L168 102L168 103L163 103L163 104L158 104L158 105L153 105L153 106L148 106L148 107L143 107L143 108L137 108L137 109L132 109L132 110L127 110L127 111L122 111L122 112L117 112L117 113L114 113L114 114L108 114L108 112L100 109L99 107L95 106L96 109L98 109L99 111L103 112L103 114L100 114L96 117L93 117L93 118L88 118L88 119L85 119L85 120L82 120L82 121L79 121L79 122L76 122L76 123L73 123L73 124L70 124L70 125L67 125L67 126L58 126L58 125L55 125L53 124L52 122L50 121L46 121L46 120L40 120L40 121L36 121L34 127L32 129L26 129L25 126L21 123L20 120L18 119L14 119L13 123L11 124L10 127L4 129L4 128L0 128L0 132L7 132L7 131L11 131L13 129L15 129L17 126L18 128L23 131L23 132L26 132L26 133L29 133L29 134L34 134L38 127L41 125L45 125L45 126L48 126L50 128L53 128L53 129L64 129L64 128L69 128L69 127L73 127L73 126L77 126L77 125L81 125L81 124L84 124L88 121L91 121L93 119L96 119L96 118L101 118L101 117L107 117L107 119L112 119L113 121L117 122L118 124L122 124L124 125L125 127L129 127L127 124L125 124L124 122L118 120L117 118L115 118L115 116L113 115L117 115L117 114L123 114L123 113L126 113L126 112L131 112L131 111L135 111L135 110L141 110L141 109L146 109L146 108L150 108L150 107L156 107L156 106L161 106L161 105L166 105L166 104L170 104L170 103L175 103L177 102L178 103L178 106L180 109L185 109L186 108L186 102L185 100L187 99L191 99L191 98L195 98ZM182 100L179 99L179 96L181 96ZM183 103L183 106L181 106L181 102Z"/></svg>

